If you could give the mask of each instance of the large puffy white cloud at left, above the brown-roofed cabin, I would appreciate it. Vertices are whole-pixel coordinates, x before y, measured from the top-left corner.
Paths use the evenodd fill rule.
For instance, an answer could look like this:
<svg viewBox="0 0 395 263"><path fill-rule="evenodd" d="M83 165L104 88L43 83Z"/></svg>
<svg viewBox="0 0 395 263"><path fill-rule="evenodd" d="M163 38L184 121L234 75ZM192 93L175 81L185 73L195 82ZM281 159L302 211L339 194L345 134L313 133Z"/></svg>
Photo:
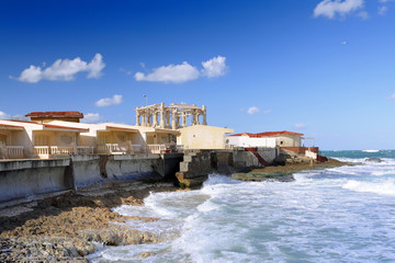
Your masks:
<svg viewBox="0 0 395 263"><path fill-rule="evenodd" d="M72 60L58 59L46 69L31 65L21 72L18 80L30 83L36 83L41 80L70 81L75 79L77 73L84 71L88 72L88 79L99 78L101 76L101 70L104 67L105 64L103 62L103 56L100 54L94 55L90 62L82 61L79 57Z"/></svg>

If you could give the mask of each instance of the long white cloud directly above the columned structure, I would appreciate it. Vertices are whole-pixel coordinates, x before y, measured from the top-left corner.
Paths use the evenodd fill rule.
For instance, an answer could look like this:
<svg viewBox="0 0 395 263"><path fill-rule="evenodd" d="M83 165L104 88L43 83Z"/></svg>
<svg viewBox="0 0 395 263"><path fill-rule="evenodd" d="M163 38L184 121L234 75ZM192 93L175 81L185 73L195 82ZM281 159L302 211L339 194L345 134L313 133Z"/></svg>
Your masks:
<svg viewBox="0 0 395 263"><path fill-rule="evenodd" d="M134 78L137 81L155 81L165 83L183 83L195 80L200 77L221 77L226 73L226 57L217 56L207 61L203 61L203 69L199 70L196 67L184 61L179 65L170 64L154 69L150 73L136 72Z"/></svg>

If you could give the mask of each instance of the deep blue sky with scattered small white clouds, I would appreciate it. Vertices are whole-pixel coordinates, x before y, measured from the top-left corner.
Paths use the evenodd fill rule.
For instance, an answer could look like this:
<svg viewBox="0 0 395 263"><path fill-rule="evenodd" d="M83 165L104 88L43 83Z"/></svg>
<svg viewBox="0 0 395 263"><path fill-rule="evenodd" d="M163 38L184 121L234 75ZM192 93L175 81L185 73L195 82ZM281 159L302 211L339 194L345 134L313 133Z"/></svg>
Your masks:
<svg viewBox="0 0 395 263"><path fill-rule="evenodd" d="M147 99L235 133L395 149L394 28L395 0L3 0L0 118L135 124Z"/></svg>

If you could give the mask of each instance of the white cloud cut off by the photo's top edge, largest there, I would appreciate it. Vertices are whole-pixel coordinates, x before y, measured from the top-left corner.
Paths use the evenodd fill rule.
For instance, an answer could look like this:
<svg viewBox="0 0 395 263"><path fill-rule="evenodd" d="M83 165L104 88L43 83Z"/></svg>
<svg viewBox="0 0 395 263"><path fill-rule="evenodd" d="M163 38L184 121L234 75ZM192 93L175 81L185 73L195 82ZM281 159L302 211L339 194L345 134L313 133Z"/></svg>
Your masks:
<svg viewBox="0 0 395 263"><path fill-rule="evenodd" d="M314 9L314 16L335 19L336 14L343 16L363 8L364 0L323 0Z"/></svg>

